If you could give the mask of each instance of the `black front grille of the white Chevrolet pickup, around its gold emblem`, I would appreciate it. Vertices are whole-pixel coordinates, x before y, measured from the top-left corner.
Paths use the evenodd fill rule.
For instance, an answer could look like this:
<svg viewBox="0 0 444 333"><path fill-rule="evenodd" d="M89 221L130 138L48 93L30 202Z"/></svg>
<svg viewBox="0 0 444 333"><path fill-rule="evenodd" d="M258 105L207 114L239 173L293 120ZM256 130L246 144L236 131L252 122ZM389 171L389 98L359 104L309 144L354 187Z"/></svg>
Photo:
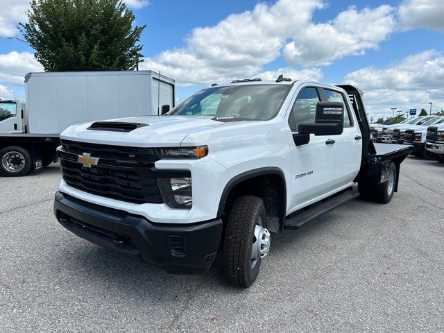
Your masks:
<svg viewBox="0 0 444 333"><path fill-rule="evenodd" d="M99 163L88 168L77 162L85 153L99 157ZM164 202L157 178L167 176L154 167L159 160L154 148L62 140L58 157L63 179L70 187L130 203Z"/></svg>

